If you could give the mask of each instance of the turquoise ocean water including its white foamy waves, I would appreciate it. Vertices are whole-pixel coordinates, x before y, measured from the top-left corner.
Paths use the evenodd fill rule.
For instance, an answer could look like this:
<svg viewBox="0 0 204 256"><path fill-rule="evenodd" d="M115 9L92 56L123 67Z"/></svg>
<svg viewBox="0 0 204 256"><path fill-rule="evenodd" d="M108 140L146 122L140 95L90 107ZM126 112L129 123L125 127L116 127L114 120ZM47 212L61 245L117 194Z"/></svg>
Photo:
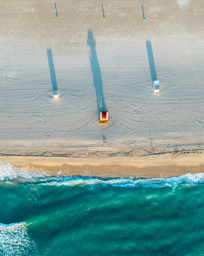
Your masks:
<svg viewBox="0 0 204 256"><path fill-rule="evenodd" d="M0 256L204 255L203 173L132 180L0 168Z"/></svg>

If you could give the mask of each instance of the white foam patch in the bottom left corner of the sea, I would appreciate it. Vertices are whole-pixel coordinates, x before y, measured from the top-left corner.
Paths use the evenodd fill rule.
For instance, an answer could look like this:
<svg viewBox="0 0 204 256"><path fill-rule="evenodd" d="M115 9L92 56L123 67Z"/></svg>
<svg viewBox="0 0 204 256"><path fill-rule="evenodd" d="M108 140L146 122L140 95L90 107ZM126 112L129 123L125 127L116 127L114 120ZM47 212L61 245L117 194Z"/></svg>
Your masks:
<svg viewBox="0 0 204 256"><path fill-rule="evenodd" d="M26 223L0 223L0 256L39 256Z"/></svg>

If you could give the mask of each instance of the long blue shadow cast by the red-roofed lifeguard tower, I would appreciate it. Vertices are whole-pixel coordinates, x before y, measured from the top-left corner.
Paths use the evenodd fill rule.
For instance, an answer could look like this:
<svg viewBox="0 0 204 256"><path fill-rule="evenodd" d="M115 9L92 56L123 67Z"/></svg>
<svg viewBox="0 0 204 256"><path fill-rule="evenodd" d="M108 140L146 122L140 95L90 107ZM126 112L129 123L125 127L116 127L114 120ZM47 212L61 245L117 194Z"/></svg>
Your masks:
<svg viewBox="0 0 204 256"><path fill-rule="evenodd" d="M89 60L93 74L93 83L96 90L98 111L107 111L102 90L102 74L96 53L96 40L91 30L88 30L87 44L89 46Z"/></svg>

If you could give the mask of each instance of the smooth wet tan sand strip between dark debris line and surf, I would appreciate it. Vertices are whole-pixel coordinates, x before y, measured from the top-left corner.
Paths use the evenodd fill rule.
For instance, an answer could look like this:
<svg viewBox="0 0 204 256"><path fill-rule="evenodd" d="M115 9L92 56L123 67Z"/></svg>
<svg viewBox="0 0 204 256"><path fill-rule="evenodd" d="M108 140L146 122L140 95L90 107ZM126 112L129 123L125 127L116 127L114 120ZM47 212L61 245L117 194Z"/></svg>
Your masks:
<svg viewBox="0 0 204 256"><path fill-rule="evenodd" d="M134 157L0 156L27 172L101 178L168 178L204 171L204 152Z"/></svg>

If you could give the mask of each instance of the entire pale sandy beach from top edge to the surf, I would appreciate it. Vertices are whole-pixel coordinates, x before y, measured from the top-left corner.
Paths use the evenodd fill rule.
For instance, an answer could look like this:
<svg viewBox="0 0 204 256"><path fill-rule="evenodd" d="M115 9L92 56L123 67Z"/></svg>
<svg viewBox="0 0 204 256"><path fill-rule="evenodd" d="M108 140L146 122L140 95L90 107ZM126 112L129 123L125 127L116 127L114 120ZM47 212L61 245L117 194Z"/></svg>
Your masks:
<svg viewBox="0 0 204 256"><path fill-rule="evenodd" d="M203 12L200 0L1 2L0 160L63 175L203 172Z"/></svg>

